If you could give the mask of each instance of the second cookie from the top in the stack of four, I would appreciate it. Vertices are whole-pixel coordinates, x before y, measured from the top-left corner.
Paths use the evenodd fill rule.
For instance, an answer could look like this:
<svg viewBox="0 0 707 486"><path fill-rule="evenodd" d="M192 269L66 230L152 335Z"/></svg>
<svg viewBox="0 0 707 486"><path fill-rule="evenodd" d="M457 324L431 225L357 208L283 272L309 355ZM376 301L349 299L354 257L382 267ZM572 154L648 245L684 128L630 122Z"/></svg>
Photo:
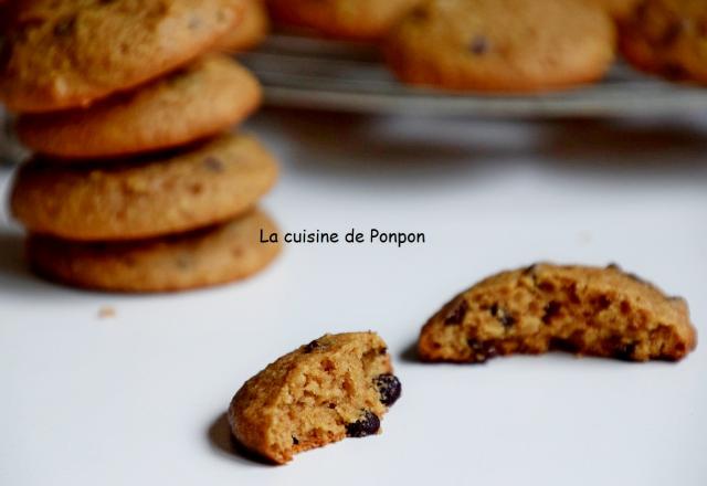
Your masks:
<svg viewBox="0 0 707 486"><path fill-rule="evenodd" d="M257 80L230 57L213 54L88 108L21 116L17 129L25 146L53 157L116 157L217 134L260 102Z"/></svg>

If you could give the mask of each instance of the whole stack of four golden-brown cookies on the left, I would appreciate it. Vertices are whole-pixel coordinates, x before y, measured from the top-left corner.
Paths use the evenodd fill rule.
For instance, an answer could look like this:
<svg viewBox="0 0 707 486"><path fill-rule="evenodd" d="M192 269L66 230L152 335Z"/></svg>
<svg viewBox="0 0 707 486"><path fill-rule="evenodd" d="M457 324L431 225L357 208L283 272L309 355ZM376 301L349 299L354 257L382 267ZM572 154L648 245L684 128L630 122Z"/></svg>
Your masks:
<svg viewBox="0 0 707 486"><path fill-rule="evenodd" d="M228 131L257 81L214 53L243 0L33 0L10 12L0 97L36 152L14 215L38 273L70 285L166 292L263 268L277 246L255 209L277 166Z"/></svg>

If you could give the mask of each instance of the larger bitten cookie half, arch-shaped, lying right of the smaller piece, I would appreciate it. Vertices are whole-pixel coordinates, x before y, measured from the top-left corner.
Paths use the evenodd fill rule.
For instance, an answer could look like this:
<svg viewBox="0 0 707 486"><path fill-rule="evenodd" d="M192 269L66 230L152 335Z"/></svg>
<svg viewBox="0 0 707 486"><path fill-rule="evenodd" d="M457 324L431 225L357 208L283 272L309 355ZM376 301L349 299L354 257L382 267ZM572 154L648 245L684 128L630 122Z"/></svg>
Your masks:
<svg viewBox="0 0 707 486"><path fill-rule="evenodd" d="M532 265L456 296L422 328L424 361L484 362L566 350L631 361L678 360L695 349L687 304L622 272Z"/></svg>

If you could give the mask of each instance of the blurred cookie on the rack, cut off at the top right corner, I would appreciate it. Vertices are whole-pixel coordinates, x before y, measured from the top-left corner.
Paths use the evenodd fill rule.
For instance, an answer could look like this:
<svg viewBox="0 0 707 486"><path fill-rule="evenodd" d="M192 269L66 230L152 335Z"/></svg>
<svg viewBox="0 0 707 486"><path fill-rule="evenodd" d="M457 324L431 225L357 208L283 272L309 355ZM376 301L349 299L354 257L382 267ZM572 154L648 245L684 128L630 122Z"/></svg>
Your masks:
<svg viewBox="0 0 707 486"><path fill-rule="evenodd" d="M621 24L621 52L641 71L707 83L707 2L643 0Z"/></svg>

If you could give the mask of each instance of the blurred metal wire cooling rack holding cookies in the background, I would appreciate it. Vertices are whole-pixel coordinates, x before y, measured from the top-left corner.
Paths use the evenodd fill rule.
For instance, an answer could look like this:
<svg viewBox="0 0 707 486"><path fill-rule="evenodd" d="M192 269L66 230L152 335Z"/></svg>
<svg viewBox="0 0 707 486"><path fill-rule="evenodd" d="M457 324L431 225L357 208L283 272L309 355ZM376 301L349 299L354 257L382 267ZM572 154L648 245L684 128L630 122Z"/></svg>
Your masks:
<svg viewBox="0 0 707 486"><path fill-rule="evenodd" d="M613 117L707 113L707 88L618 63L599 84L523 96L458 95L405 86L371 45L275 34L240 59L272 106L355 113L478 117Z"/></svg>

